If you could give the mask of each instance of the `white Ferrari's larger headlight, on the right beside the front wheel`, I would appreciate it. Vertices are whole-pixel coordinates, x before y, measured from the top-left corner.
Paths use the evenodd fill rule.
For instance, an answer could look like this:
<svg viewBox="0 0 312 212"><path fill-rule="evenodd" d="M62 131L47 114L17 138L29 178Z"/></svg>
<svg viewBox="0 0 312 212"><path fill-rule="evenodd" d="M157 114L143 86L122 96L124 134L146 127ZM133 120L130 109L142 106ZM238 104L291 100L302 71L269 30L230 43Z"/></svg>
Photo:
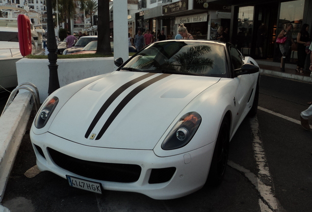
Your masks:
<svg viewBox="0 0 312 212"><path fill-rule="evenodd" d="M186 113L169 132L161 148L173 150L185 146L192 139L201 122L202 117L197 112Z"/></svg>

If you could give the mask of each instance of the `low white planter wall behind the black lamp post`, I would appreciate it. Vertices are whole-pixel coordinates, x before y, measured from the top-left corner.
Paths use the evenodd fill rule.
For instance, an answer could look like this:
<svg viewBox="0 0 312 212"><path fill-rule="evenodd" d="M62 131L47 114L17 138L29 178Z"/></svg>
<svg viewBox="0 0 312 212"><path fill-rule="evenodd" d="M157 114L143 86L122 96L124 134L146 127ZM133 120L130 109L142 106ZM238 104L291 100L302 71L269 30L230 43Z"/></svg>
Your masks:
<svg viewBox="0 0 312 212"><path fill-rule="evenodd" d="M61 87L81 79L114 71L113 57L58 59L56 63ZM48 59L23 58L16 62L18 84L33 83L39 90L40 103L48 97L50 73L48 65Z"/></svg>

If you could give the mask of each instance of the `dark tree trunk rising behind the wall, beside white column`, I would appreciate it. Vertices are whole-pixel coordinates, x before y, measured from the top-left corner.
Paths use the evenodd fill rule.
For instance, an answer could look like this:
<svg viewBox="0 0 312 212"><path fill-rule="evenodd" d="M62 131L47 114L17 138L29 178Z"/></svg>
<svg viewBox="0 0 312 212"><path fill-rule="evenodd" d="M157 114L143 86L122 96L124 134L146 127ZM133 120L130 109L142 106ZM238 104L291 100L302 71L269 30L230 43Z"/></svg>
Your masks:
<svg viewBox="0 0 312 212"><path fill-rule="evenodd" d="M109 0L98 2L98 54L111 55L109 31Z"/></svg>

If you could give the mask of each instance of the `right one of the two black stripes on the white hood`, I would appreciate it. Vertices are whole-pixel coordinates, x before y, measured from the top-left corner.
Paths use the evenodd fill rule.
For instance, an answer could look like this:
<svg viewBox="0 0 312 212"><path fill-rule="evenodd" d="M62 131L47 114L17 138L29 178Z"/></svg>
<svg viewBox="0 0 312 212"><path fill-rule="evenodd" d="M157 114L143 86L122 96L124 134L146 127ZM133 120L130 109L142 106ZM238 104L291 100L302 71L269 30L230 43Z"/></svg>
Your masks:
<svg viewBox="0 0 312 212"><path fill-rule="evenodd" d="M140 93L142 90L144 90L146 87L150 86L151 84L164 79L168 76L170 76L171 74L162 74L159 75L153 79L150 79L142 84L140 84L139 86L137 86L136 88L134 88L120 103L119 105L114 109L114 111L110 114L110 116L108 117L108 119L106 120L104 126L102 127L101 131L99 132L99 134L96 137L96 140L99 140L102 135L104 134L104 132L107 130L107 128L109 127L109 125L114 121L114 119L116 118L116 116L120 113L120 111L130 102L130 100L135 97L138 93Z"/></svg>

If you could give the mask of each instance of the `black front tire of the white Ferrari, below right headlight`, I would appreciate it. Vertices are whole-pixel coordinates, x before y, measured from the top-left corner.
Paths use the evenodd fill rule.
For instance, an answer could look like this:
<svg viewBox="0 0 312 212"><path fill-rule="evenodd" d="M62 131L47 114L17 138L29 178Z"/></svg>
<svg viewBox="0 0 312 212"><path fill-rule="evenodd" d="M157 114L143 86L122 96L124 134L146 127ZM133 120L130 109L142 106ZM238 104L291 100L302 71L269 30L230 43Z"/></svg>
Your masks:
<svg viewBox="0 0 312 212"><path fill-rule="evenodd" d="M207 184L218 186L224 178L230 149L230 121L224 117L219 130L210 164Z"/></svg>

